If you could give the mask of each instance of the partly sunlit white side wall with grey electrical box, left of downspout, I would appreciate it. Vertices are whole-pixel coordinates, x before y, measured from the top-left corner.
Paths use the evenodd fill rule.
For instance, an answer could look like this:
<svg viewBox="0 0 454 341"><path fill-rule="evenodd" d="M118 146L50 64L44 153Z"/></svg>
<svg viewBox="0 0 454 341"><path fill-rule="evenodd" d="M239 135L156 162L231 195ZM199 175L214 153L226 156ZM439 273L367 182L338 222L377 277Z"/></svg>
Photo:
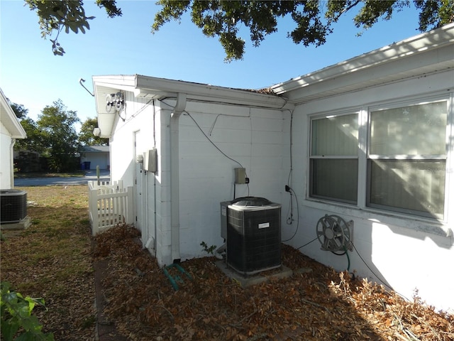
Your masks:
<svg viewBox="0 0 454 341"><path fill-rule="evenodd" d="M167 264L170 257L170 107L126 92L126 109L116 119L111 137L111 179L134 188L135 227L143 247ZM162 104L163 105L163 104ZM123 121L124 119L124 121ZM157 151L157 172L145 171L137 158Z"/></svg>

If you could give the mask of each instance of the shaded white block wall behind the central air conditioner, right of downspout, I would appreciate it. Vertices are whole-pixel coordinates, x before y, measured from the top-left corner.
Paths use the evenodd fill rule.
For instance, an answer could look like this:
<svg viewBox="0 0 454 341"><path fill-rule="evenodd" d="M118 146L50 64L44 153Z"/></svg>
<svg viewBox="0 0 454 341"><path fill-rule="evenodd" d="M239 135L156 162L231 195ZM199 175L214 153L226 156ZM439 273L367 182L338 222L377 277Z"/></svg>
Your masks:
<svg viewBox="0 0 454 341"><path fill-rule="evenodd" d="M201 242L223 244L221 202L249 195L282 203L288 124L280 110L188 103L179 119L182 259L205 256ZM248 185L234 183L235 168L245 168Z"/></svg>

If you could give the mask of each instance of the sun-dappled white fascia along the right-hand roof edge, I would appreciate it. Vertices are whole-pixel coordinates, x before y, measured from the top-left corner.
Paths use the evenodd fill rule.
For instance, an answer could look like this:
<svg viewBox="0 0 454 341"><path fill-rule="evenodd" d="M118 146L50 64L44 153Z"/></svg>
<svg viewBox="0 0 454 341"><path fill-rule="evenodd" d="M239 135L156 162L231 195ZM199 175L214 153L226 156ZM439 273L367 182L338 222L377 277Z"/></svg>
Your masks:
<svg viewBox="0 0 454 341"><path fill-rule="evenodd" d="M345 76L360 70L368 70L371 67L388 64L419 53L427 53L430 50L439 50L454 42L454 23L443 26L428 33L422 33L399 43L384 46L355 58L345 60L336 65L325 67L319 71L311 72L301 77L293 78L287 82L273 85L270 89L276 94L286 94L301 87L314 85L314 83L325 82L337 77ZM452 58L452 54L451 54ZM291 96L289 96L291 97Z"/></svg>

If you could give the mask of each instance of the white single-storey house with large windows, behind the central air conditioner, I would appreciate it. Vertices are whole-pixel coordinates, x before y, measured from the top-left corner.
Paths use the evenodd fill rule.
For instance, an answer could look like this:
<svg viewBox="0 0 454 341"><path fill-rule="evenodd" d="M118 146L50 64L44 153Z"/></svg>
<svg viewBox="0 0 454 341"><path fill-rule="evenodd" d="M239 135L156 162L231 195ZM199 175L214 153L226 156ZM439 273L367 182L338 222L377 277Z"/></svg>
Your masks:
<svg viewBox="0 0 454 341"><path fill-rule="evenodd" d="M267 91L93 81L111 179L134 186L136 227L161 266L223 244L220 202L266 197L282 204L287 244L454 309L453 24ZM325 215L353 221L349 259L311 242Z"/></svg>

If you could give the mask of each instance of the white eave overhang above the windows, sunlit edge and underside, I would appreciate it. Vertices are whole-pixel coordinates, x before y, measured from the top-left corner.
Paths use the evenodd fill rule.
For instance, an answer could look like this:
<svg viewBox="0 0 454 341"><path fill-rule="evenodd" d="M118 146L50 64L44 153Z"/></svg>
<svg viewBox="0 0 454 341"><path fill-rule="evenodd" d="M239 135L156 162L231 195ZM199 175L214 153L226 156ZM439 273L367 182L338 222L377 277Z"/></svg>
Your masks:
<svg viewBox="0 0 454 341"><path fill-rule="evenodd" d="M454 68L454 23L270 87L294 103Z"/></svg>

